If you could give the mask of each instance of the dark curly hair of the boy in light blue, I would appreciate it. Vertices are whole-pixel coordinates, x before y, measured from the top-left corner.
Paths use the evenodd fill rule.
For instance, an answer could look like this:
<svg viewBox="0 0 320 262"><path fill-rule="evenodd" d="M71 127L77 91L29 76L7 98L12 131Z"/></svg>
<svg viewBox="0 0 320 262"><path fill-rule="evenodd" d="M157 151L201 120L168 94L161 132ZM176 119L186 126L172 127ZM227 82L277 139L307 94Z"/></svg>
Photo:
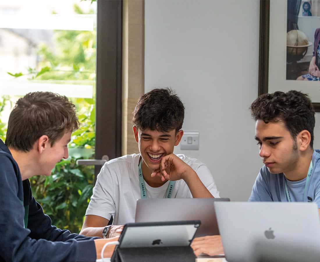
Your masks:
<svg viewBox="0 0 320 262"><path fill-rule="evenodd" d="M302 130L308 130L311 135L310 146L313 148L315 111L307 94L296 90L262 94L249 109L254 120L260 119L265 123L282 120L294 141Z"/></svg>

